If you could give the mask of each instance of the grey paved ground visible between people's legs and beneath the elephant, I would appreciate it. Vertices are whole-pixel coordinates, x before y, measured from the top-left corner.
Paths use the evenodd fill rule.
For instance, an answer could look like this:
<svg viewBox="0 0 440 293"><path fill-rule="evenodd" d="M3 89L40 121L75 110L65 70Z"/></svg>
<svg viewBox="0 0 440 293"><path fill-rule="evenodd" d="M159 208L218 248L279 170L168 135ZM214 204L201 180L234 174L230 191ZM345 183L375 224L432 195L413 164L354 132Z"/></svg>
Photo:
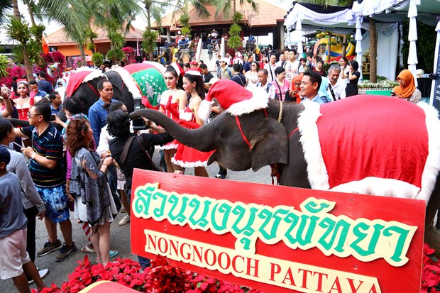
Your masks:
<svg viewBox="0 0 440 293"><path fill-rule="evenodd" d="M156 152L157 153L157 152ZM158 156L155 154L153 157L155 162L158 162ZM210 165L207 168L210 177L214 177L219 170L216 163ZM187 170L188 175L193 175L192 168ZM244 182L260 182L265 184L271 184L270 179L270 167L263 167L258 170L258 172L253 172L252 170L244 172L228 172L229 180L237 180ZM118 226L119 220L125 216L125 214L119 214L116 216L114 224L111 225L111 248L119 250L119 257L121 258L132 258L136 259L136 256L131 254L130 249L130 226ZM58 286L62 282L67 281L67 276L73 272L74 268L77 266L77 262L83 260L84 253L79 251L79 248L86 245L86 239L82 233L82 229L77 224L76 219L71 214L72 225L73 225L73 241L77 245L78 251L73 254L68 260L64 262L55 262L55 256L57 253L53 252L45 255L41 258L35 259L35 264L40 268L48 268L50 273L47 277L43 279L46 285L55 283ZM62 239L60 229L58 228L58 238ZM43 221L38 221L36 229L36 246L37 250L43 247L43 244L47 240L47 233L45 231L45 226ZM2 253L2 252L0 252ZM94 255L89 254L89 259L94 260ZM35 284L31 285L31 288L35 288ZM0 280L0 293L17 292L16 287L14 287L12 280Z"/></svg>

